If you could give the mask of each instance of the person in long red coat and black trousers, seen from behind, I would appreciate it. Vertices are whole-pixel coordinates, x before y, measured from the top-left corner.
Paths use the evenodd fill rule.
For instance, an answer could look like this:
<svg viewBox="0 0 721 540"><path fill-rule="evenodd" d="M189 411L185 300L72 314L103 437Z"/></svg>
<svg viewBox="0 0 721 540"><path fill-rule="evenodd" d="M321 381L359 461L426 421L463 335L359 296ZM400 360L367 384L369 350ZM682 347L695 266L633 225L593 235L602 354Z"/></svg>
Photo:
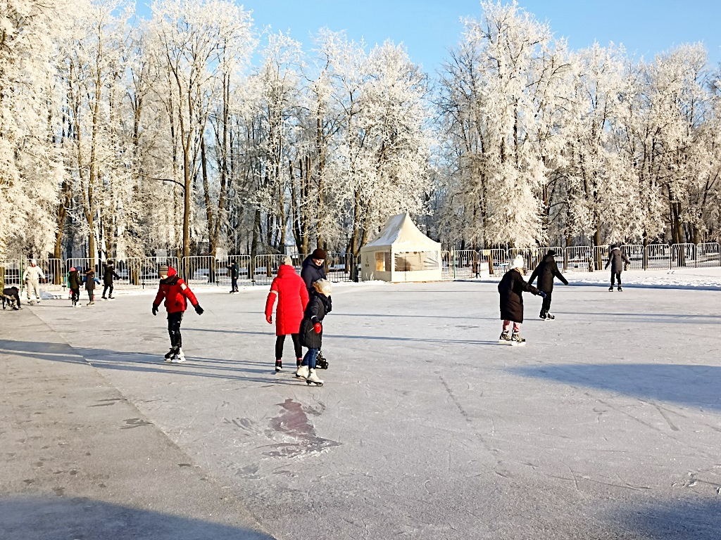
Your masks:
<svg viewBox="0 0 721 540"><path fill-rule="evenodd" d="M273 279L265 300L265 320L268 324L273 324L275 297L278 297L278 308L275 310L275 371L280 372L283 369L283 343L286 342L288 334L293 339L296 367L301 365L303 349L298 338L298 328L301 327L303 312L308 303L306 284L301 276L296 274L293 259L288 256L278 267L278 277Z"/></svg>

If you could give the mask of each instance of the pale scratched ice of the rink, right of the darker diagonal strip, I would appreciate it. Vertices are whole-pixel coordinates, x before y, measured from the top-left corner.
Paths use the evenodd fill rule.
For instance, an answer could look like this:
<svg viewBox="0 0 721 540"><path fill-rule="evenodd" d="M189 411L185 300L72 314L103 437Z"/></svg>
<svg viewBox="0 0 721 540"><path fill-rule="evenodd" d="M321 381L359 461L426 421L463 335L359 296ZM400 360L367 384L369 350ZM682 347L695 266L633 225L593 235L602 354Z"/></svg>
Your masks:
<svg viewBox="0 0 721 540"><path fill-rule="evenodd" d="M44 301L13 339L58 332L278 539L721 538L719 291L557 284L512 347L495 283L337 287L323 387L289 339L273 371L267 287L197 294L185 364L148 296Z"/></svg>

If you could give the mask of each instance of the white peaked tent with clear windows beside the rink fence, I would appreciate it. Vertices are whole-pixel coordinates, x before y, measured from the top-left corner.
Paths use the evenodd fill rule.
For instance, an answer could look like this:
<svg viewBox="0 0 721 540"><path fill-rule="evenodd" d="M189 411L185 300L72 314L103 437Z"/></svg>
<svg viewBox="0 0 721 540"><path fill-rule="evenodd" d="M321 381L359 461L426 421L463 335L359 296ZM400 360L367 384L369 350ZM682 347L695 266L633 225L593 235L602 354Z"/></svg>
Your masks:
<svg viewBox="0 0 721 540"><path fill-rule="evenodd" d="M361 248L361 276L363 281L441 281L441 243L421 233L407 214L394 215Z"/></svg>

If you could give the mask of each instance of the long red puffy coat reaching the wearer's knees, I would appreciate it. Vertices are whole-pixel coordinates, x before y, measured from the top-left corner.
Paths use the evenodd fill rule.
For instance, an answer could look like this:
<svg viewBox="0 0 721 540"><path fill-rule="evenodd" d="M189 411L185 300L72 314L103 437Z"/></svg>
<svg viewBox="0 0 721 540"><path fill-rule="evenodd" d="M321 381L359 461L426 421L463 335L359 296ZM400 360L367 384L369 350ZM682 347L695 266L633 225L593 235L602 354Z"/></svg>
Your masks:
<svg viewBox="0 0 721 540"><path fill-rule="evenodd" d="M297 334L301 328L303 312L308 303L308 289L296 274L296 269L288 264L278 267L278 277L270 285L270 293L265 300L265 318L273 315L273 304L278 297L278 309L275 310L275 335Z"/></svg>

